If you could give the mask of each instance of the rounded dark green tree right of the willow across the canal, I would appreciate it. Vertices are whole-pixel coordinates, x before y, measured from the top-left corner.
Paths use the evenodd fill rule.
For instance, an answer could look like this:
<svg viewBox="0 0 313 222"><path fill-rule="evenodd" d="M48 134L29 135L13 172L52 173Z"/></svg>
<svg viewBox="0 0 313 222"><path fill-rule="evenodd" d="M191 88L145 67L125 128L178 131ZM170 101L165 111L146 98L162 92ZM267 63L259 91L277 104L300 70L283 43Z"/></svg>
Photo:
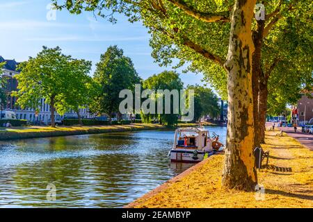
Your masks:
<svg viewBox="0 0 313 222"><path fill-rule="evenodd" d="M211 89L200 85L187 85L188 89L195 92L195 120L207 114L212 118L218 117L220 113L218 98Z"/></svg>

